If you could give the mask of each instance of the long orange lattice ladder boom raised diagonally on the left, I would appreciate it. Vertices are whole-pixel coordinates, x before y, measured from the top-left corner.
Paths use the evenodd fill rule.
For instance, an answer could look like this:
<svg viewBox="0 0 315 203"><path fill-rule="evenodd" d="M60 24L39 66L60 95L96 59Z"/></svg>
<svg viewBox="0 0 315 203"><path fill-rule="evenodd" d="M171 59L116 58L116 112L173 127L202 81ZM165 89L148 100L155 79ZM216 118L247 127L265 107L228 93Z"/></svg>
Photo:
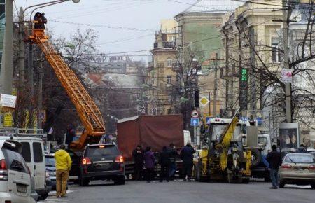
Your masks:
<svg viewBox="0 0 315 203"><path fill-rule="evenodd" d="M94 103L90 94L76 76L73 70L64 62L64 59L55 50L53 45L48 41L43 29L34 29L33 36L30 36L34 43L37 43L45 54L46 59L54 69L56 76L64 90L76 106L76 110L85 131L78 141L71 143L71 148L81 150L86 144L95 144L105 134L104 121L102 113Z"/></svg>

